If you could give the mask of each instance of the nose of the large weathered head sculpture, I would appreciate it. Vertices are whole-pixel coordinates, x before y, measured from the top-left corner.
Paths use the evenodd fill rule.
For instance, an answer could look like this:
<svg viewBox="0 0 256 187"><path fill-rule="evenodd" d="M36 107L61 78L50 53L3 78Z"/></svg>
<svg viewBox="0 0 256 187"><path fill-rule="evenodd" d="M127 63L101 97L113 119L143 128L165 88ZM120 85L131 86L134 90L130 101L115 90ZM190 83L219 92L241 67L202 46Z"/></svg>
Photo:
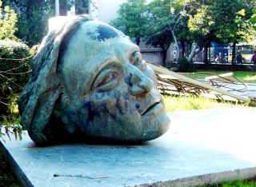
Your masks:
<svg viewBox="0 0 256 187"><path fill-rule="evenodd" d="M129 91L134 96L142 96L152 90L154 82L146 77L140 70L134 66L130 66L130 82Z"/></svg>

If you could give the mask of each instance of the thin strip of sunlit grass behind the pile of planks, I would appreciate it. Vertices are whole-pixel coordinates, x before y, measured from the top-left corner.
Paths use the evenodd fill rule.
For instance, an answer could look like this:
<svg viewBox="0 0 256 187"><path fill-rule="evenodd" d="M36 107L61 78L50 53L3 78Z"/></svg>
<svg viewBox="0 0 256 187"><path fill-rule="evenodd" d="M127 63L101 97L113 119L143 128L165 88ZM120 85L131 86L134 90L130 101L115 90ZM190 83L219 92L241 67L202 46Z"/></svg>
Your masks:
<svg viewBox="0 0 256 187"><path fill-rule="evenodd" d="M206 72L214 73L214 74L226 74L230 71L217 71L217 70L207 70L204 73L200 73L202 71L195 71L194 73L185 74L189 78L194 79L205 79L208 76L212 76L213 74L209 74ZM234 71L234 77L238 78L240 81L245 83L256 83L256 72L252 71Z"/></svg>

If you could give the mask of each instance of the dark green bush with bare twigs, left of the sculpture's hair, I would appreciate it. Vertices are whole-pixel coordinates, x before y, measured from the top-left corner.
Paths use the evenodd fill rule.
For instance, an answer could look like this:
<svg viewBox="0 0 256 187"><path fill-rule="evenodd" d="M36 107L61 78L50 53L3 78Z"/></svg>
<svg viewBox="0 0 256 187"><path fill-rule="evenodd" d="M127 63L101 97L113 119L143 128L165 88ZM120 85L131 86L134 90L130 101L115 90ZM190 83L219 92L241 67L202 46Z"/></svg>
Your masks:
<svg viewBox="0 0 256 187"><path fill-rule="evenodd" d="M21 42L0 41L0 121L18 115L15 100L30 78L32 56Z"/></svg>

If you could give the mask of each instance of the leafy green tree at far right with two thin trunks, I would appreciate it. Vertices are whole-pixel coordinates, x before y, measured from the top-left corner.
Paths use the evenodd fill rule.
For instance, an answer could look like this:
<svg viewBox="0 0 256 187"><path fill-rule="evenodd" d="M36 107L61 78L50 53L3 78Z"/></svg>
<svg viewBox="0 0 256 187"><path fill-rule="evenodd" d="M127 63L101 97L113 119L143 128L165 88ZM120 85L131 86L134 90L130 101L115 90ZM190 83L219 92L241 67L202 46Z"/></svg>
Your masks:
<svg viewBox="0 0 256 187"><path fill-rule="evenodd" d="M194 0L190 0L193 2ZM196 3L200 2L200 5ZM204 46L207 63L210 42L232 43L234 64L235 46L238 42L249 42L254 38L253 10L255 0L194 1L188 26L196 37L195 42ZM197 7L197 8L196 8ZM197 39L198 38L198 39Z"/></svg>

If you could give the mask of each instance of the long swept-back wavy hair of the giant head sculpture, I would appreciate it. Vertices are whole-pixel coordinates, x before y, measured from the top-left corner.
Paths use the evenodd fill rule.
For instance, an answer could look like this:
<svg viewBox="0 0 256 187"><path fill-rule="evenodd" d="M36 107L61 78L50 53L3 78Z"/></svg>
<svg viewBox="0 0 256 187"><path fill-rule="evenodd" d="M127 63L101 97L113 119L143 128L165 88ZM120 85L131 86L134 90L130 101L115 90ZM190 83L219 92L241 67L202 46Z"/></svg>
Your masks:
<svg viewBox="0 0 256 187"><path fill-rule="evenodd" d="M62 81L57 71L62 39L83 20L90 18L78 17L44 38L33 61L30 82L18 99L22 115L21 125L38 145L45 145L50 141L44 129L50 121L58 97L62 94Z"/></svg>

